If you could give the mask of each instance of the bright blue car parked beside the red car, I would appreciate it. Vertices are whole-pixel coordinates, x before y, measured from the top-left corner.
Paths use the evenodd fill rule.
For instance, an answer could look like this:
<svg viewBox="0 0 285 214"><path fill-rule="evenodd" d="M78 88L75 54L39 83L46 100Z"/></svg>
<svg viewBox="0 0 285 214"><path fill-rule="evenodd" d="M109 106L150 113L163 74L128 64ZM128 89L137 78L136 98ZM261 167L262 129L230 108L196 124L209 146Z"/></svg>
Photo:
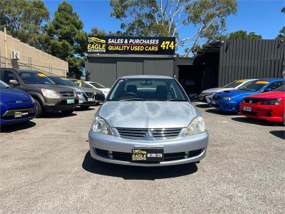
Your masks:
<svg viewBox="0 0 285 214"><path fill-rule="evenodd" d="M211 100L211 106L220 111L237 113L239 112L239 103L242 102L245 96L272 91L283 85L284 82L283 78L262 78L251 81L236 90L215 93Z"/></svg>

